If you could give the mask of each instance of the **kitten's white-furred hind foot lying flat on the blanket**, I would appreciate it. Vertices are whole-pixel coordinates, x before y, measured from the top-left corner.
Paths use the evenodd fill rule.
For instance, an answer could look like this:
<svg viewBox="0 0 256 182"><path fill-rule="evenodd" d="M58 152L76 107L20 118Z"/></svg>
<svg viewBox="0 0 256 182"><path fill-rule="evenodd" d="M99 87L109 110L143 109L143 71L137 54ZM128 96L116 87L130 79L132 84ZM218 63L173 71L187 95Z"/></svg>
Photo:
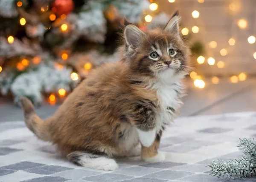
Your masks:
<svg viewBox="0 0 256 182"><path fill-rule="evenodd" d="M107 156L75 151L68 154L67 159L76 165L81 165L87 168L100 169L105 171L113 171L118 169L116 161L114 159L108 158Z"/></svg>

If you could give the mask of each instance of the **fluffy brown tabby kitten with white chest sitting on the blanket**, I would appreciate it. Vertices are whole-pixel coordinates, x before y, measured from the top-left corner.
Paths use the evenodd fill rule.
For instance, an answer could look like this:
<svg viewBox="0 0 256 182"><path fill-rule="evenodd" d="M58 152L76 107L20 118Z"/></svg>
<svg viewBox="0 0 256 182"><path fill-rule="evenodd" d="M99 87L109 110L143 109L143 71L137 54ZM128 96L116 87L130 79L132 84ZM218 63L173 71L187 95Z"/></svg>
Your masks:
<svg viewBox="0 0 256 182"><path fill-rule="evenodd" d="M145 32L127 25L123 59L92 71L45 121L21 98L27 127L84 167L111 171L118 168L114 157L139 154L148 162L163 161L160 138L182 103L190 54L179 19L176 12L165 28Z"/></svg>

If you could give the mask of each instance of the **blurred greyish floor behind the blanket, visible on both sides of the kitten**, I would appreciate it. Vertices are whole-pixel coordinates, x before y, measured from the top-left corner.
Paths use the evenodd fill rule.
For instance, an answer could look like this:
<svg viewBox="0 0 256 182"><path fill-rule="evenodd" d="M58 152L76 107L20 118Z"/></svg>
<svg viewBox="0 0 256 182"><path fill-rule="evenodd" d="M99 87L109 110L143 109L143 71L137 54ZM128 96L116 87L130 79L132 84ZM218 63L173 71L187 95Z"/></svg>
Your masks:
<svg viewBox="0 0 256 182"><path fill-rule="evenodd" d="M206 80L203 89L195 88L191 80L186 80L186 85L187 96L183 98L181 116L256 111L256 78L238 83L223 79L217 85ZM58 105L44 104L37 108L37 113L44 119L57 108ZM13 105L12 100L0 97L0 121L20 120L23 120L22 110Z"/></svg>

